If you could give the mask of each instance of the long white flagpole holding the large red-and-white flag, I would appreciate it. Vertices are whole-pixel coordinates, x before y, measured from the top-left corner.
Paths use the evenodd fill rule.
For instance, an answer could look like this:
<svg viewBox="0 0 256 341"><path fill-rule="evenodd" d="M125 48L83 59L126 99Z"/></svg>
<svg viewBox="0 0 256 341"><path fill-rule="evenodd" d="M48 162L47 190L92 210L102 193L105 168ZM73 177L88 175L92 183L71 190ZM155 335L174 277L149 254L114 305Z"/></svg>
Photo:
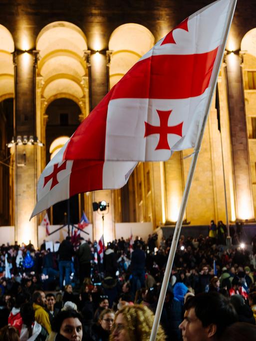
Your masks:
<svg viewBox="0 0 256 341"><path fill-rule="evenodd" d="M170 253L169 253L169 257L168 257L168 261L167 261L167 265L166 265L166 269L165 269L165 275L164 275L164 279L163 279L163 283L162 283L162 287L161 287L161 292L160 292L160 296L159 296L159 300L158 300L158 304L157 304L157 309L156 309L155 319L154 319L154 323L153 323L153 327L152 327L152 331L151 331L150 341L156 340L157 330L158 330L158 326L159 326L159 322L160 322L160 318L161 318L161 314L162 314L162 310L163 310L163 305L164 305L164 301L165 301L165 295L167 292L167 287L168 287L168 283L169 283L169 279L170 279L170 275L171 275L171 271L172 271L173 261L174 261L174 257L175 257L180 233L181 233L182 221L183 221L186 205L188 202L189 191L190 191L192 179L194 176L194 172L196 169L198 154L199 154L200 147L202 144L208 114L209 114L209 111L211 108L214 89L216 87L218 75L220 73L221 62L223 60L224 50L225 50L228 34L230 31L234 11L236 8L236 4L237 4L237 0L234 0L234 2L231 5L230 15L229 15L229 19L227 20L227 27L226 27L226 31L225 31L225 35L224 35L224 39L223 39L223 44L220 48L220 53L218 54L217 65L219 65L219 67L216 67L215 70L213 70L213 75L212 75L213 78L212 79L214 81L212 84L211 94L210 94L209 99L208 99L208 103L207 103L207 107L206 107L206 114L204 117L204 121L202 123L201 131L200 131L200 134L198 136L197 143L195 145L193 159L192 159L192 162L190 165L190 170L189 170L185 190L183 193L183 198L182 198L182 202L181 202L179 216L178 216L178 220L176 222L175 231L174 231L173 240L172 240L172 245L171 245L171 249L170 249Z"/></svg>

